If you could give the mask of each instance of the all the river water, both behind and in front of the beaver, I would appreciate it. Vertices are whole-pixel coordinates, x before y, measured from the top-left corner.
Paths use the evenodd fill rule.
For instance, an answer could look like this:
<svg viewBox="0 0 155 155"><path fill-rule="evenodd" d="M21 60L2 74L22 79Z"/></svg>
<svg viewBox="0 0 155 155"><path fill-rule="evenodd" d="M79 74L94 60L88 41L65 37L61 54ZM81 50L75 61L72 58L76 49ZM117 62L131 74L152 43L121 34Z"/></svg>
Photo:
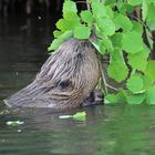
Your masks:
<svg viewBox="0 0 155 155"><path fill-rule="evenodd" d="M48 58L52 18L0 19L0 100L33 81ZM2 102L0 103L2 105ZM86 112L83 122L60 115ZM9 126L8 121L24 124ZM154 155L155 106L124 104L54 113L11 110L0 115L0 155Z"/></svg>

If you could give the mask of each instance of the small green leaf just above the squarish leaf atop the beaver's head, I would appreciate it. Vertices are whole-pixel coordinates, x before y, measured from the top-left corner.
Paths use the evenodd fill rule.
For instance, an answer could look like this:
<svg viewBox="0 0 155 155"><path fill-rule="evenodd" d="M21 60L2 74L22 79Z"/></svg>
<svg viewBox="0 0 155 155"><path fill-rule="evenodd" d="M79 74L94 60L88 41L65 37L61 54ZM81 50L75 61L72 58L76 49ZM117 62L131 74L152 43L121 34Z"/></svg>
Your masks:
<svg viewBox="0 0 155 155"><path fill-rule="evenodd" d="M93 16L92 16L92 12L91 11L89 11L89 10L82 11L81 12L81 18L87 24L92 24Z"/></svg>

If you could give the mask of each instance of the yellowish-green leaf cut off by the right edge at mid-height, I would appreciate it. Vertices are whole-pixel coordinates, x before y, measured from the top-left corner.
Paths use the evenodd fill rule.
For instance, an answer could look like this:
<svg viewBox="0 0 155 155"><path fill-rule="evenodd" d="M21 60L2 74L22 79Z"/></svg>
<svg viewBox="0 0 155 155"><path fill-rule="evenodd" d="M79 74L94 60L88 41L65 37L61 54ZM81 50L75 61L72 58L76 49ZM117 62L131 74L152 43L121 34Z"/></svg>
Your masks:
<svg viewBox="0 0 155 155"><path fill-rule="evenodd" d="M146 75L151 78L152 81L155 81L155 61L154 60L149 60L147 62L145 73Z"/></svg>

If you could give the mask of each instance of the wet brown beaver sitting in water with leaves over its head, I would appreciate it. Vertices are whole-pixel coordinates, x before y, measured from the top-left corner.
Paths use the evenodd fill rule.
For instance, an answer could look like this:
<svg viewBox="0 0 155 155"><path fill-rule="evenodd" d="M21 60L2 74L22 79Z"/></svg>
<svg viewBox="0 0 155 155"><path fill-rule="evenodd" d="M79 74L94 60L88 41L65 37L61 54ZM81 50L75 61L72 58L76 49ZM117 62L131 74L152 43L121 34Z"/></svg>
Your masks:
<svg viewBox="0 0 155 155"><path fill-rule="evenodd" d="M49 56L30 85L4 103L55 110L79 107L92 94L100 74L96 50L91 42L70 39Z"/></svg>

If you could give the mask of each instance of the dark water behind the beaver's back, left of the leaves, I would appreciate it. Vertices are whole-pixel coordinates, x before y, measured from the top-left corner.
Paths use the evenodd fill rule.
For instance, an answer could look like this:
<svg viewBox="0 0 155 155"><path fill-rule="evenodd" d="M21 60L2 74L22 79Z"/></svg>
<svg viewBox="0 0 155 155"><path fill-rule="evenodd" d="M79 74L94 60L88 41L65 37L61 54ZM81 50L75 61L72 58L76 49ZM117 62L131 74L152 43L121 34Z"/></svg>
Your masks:
<svg viewBox="0 0 155 155"><path fill-rule="evenodd" d="M48 56L54 18L0 19L0 99L34 79Z"/></svg>

